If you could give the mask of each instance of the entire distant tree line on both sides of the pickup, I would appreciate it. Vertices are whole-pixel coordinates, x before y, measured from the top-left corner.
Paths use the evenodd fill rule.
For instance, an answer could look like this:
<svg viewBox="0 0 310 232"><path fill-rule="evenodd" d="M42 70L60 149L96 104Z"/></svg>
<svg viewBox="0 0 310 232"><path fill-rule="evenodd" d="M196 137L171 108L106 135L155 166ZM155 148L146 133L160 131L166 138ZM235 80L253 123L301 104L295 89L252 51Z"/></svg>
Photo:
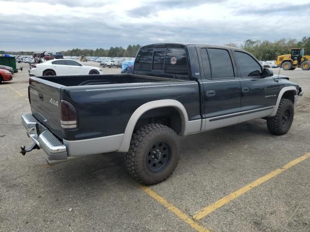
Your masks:
<svg viewBox="0 0 310 232"><path fill-rule="evenodd" d="M275 42L267 40L246 40L239 46L236 43L226 43L227 46L242 48L253 54L259 60L275 60L277 56L290 53L291 48L303 47L305 48L305 55L310 55L310 37L303 37L301 41L296 39L280 39ZM91 56L91 57L135 57L140 44L128 45L127 49L123 47L110 47L110 49L97 48L93 49L79 49L62 51L64 56ZM32 55L33 52L6 52L0 51L0 54L12 55Z"/></svg>

